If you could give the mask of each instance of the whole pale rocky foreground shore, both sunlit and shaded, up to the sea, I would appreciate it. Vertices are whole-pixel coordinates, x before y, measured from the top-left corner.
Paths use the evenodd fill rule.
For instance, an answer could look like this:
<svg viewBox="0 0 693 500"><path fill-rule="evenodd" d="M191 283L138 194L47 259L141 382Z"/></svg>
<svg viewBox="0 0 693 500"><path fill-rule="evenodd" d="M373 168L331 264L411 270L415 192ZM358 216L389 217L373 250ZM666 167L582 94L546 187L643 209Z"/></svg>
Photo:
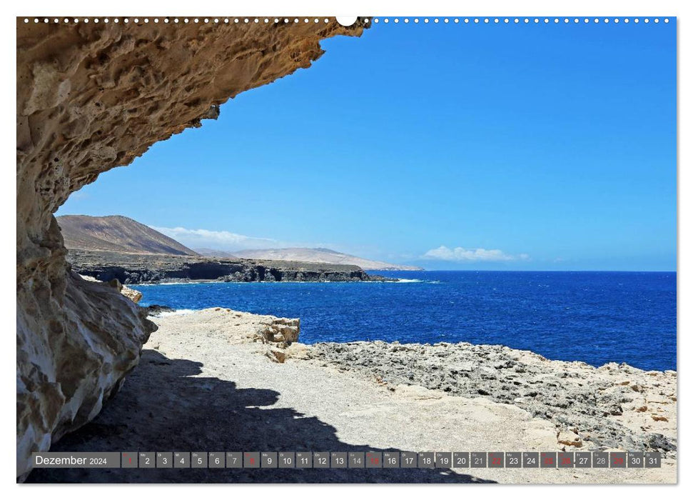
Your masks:
<svg viewBox="0 0 693 500"><path fill-rule="evenodd" d="M37 469L29 482L676 482L674 371L504 346L308 345L298 319L148 312L139 366L51 450L660 451L662 468Z"/></svg>

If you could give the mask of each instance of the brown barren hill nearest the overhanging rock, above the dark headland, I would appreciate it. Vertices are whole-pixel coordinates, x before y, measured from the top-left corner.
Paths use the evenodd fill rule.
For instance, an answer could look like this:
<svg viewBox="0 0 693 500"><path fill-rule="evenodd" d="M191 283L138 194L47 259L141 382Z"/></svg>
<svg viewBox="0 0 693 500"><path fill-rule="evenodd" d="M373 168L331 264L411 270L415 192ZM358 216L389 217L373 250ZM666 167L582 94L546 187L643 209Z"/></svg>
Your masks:
<svg viewBox="0 0 693 500"><path fill-rule="evenodd" d="M57 219L68 249L198 255L175 239L121 215L64 215Z"/></svg>

